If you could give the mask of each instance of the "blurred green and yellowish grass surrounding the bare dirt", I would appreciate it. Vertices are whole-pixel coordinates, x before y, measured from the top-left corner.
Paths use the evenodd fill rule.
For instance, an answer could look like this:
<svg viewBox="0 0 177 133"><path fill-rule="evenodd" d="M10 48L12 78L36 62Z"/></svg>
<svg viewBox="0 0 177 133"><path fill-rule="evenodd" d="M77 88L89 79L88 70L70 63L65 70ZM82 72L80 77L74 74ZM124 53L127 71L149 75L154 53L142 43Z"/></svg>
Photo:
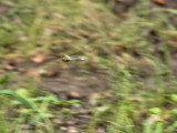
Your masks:
<svg viewBox="0 0 177 133"><path fill-rule="evenodd" d="M46 54L85 55L91 62L80 65L91 68L92 63L96 63L107 69L112 99L100 101L102 106L92 108L93 117L87 132L95 133L100 124L107 127L106 133L176 131L177 82L168 66L173 49L168 41L176 34L176 29L168 20L169 14L165 13L175 14L176 10L149 10L149 2L142 0L131 9L131 17L124 19L114 14L110 6L101 0L7 0L4 3L10 8L0 17L1 57L28 57L31 51L40 49ZM153 13L156 16L150 18ZM162 40L163 47L155 52L153 39L147 39L150 30L156 31ZM134 55L135 51L140 58ZM1 86L6 86L9 79L9 75L2 76ZM22 123L37 124L34 133L54 133L56 131L50 119L60 111L52 109L51 103L52 106L80 103L59 101L54 95L45 93L39 96L39 91L33 88L35 81L21 81L30 91L18 91L21 86L14 85L17 93L25 95L23 99L41 110L31 111L18 101L1 95L2 133L20 133ZM4 113L9 108L12 108L15 115L8 116ZM100 111L98 108L104 110ZM61 110L61 113L67 114L69 119L71 116L67 109ZM7 123L13 123L14 129L9 130ZM44 126L38 126L39 123Z"/></svg>

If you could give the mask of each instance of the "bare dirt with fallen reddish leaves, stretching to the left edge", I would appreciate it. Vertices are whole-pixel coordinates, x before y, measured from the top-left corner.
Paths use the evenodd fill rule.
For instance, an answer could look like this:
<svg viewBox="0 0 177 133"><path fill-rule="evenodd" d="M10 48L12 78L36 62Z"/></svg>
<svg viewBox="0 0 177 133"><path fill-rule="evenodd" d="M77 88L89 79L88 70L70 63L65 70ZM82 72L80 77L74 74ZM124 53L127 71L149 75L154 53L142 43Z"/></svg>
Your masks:
<svg viewBox="0 0 177 133"><path fill-rule="evenodd" d="M108 89L104 71L87 70L59 59L56 62L48 60L35 63L30 58L12 58L1 60L1 64L4 73L8 71L19 73L13 82L22 81L25 76L40 78L37 86L56 94L60 99L65 99L71 92L77 93L80 98L88 98L92 93Z"/></svg>

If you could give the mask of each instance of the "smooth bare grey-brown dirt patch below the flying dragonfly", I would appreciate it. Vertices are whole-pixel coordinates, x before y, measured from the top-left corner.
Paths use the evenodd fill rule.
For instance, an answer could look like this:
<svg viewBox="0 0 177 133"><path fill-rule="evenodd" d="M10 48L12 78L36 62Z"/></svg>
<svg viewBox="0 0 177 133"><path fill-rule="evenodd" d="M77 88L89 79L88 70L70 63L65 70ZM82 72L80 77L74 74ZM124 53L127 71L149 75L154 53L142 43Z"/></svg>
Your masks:
<svg viewBox="0 0 177 133"><path fill-rule="evenodd" d="M40 88L60 96L71 92L76 92L80 96L88 96L92 93L104 91L108 86L104 74L81 75L69 70L67 72L61 72L56 78L43 79Z"/></svg>

